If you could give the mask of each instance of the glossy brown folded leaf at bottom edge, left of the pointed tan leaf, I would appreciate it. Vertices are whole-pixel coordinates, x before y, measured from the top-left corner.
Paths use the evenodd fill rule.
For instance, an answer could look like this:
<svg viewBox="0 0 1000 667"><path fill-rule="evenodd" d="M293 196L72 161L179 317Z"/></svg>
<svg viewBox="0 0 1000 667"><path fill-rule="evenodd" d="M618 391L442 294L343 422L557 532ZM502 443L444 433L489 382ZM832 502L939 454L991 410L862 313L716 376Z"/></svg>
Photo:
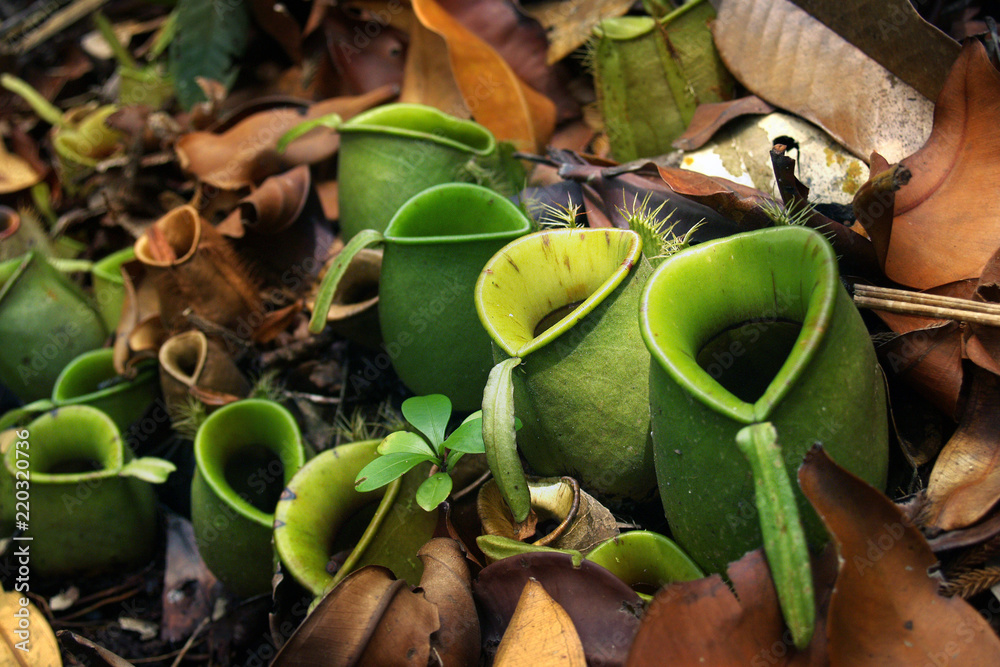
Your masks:
<svg viewBox="0 0 1000 667"><path fill-rule="evenodd" d="M272 667L427 665L437 611L378 565L344 578L278 651Z"/></svg>

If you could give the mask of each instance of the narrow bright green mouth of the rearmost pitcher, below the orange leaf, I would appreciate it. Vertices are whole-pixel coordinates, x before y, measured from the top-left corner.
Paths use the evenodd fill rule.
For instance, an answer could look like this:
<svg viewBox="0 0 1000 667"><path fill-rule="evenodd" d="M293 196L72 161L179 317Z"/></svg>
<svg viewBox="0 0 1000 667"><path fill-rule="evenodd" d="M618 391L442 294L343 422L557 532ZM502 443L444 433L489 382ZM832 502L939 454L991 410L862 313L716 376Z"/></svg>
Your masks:
<svg viewBox="0 0 1000 667"><path fill-rule="evenodd" d="M496 139L481 125L422 104L389 104L360 113L340 126L341 134L374 132L433 141L455 150L487 156Z"/></svg>

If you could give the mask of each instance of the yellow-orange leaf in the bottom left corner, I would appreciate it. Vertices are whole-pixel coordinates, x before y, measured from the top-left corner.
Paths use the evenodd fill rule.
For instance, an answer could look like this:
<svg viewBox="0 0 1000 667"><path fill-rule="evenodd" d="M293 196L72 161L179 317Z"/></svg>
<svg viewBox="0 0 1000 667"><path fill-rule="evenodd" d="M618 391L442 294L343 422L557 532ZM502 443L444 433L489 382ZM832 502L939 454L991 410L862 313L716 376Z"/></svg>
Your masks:
<svg viewBox="0 0 1000 667"><path fill-rule="evenodd" d="M3 589L0 589L0 664L9 667L62 665L59 643L45 615L24 593Z"/></svg>

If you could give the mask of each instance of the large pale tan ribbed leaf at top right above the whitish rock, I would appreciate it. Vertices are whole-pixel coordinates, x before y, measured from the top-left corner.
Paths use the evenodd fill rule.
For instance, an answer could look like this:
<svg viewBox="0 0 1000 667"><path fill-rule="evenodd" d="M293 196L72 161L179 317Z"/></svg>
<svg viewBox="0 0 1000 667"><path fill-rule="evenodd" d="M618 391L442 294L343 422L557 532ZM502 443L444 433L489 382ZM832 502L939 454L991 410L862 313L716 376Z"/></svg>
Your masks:
<svg viewBox="0 0 1000 667"><path fill-rule="evenodd" d="M712 31L743 85L859 158L899 160L930 134L930 100L789 0L726 0Z"/></svg>

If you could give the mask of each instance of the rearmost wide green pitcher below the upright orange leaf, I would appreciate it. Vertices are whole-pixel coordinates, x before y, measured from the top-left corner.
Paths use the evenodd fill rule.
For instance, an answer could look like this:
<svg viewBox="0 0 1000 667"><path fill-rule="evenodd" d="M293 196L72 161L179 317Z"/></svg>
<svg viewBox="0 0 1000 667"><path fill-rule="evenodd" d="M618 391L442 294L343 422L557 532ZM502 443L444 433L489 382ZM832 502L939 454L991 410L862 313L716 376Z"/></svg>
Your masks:
<svg viewBox="0 0 1000 667"><path fill-rule="evenodd" d="M420 104L385 104L339 127L340 234L384 231L399 207L432 185L474 181L496 160L482 125Z"/></svg>

